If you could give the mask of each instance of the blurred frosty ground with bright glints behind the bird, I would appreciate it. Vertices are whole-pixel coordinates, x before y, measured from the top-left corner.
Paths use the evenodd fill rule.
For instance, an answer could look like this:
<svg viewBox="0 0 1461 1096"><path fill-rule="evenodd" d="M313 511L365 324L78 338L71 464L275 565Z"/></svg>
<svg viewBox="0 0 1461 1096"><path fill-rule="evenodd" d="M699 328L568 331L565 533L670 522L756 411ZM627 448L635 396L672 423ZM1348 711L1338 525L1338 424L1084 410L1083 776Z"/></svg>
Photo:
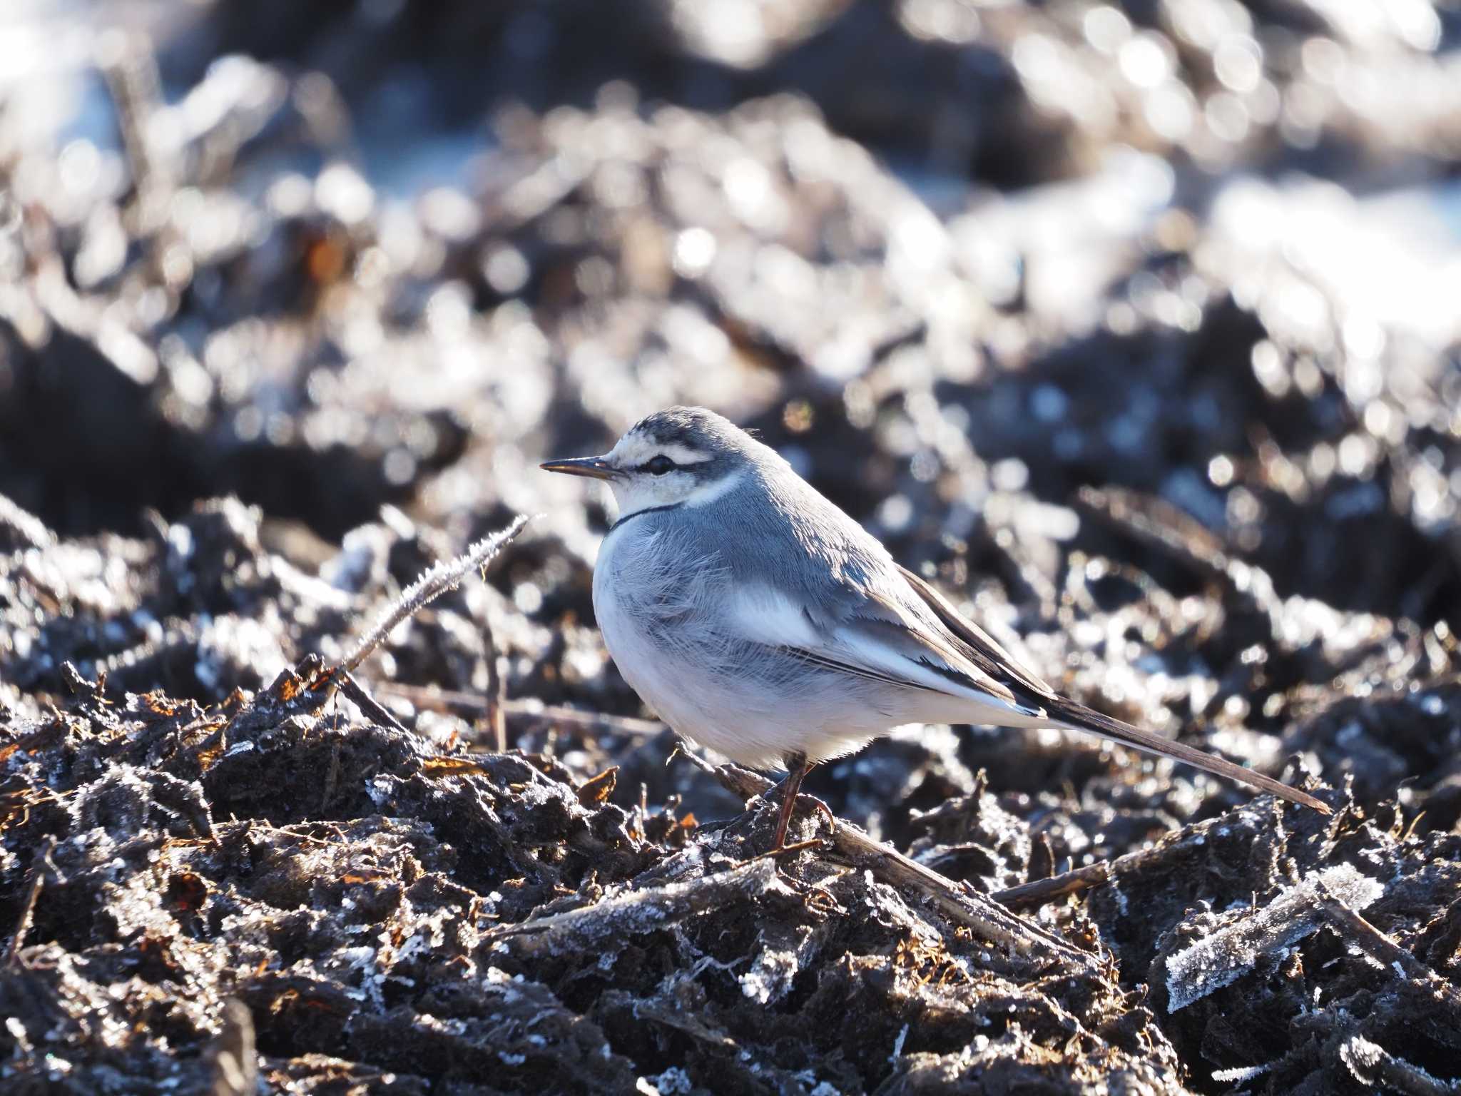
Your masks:
<svg viewBox="0 0 1461 1096"><path fill-rule="evenodd" d="M690 402L1011 620L1131 557L1119 498L1454 623L1458 44L1441 0L7 0L0 494L237 494L301 560L546 511L587 563L605 500L535 463Z"/></svg>

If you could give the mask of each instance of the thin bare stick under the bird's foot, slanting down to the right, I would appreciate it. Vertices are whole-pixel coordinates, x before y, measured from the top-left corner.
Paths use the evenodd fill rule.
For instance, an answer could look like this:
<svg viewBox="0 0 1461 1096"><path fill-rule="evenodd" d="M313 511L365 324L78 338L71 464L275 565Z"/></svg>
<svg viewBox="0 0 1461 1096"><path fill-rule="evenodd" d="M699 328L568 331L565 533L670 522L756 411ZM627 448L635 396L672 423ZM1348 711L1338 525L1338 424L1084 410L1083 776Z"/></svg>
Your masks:
<svg viewBox="0 0 1461 1096"><path fill-rule="evenodd" d="M739 766L713 766L690 751L681 753L701 772L710 773L723 788L744 799L754 799L774 786L767 777ZM897 849L872 840L846 820L837 820L831 843L855 867L868 868L893 886L912 887L932 900L950 921L964 925L983 940L1002 944L1020 954L1059 960L1081 969L1096 966L1096 956L1071 947L1039 925L993 903L986 894L966 890L951 878L909 859Z"/></svg>

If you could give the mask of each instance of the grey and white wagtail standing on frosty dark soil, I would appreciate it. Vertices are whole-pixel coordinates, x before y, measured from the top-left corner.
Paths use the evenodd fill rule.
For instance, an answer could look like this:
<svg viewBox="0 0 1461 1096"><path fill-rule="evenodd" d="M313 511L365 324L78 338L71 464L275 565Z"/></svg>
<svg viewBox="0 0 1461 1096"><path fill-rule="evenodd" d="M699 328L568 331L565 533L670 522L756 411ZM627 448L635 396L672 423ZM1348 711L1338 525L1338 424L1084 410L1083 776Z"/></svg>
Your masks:
<svg viewBox="0 0 1461 1096"><path fill-rule="evenodd" d="M602 456L541 468L600 479L618 504L593 611L624 680L682 738L786 770L773 850L812 766L909 723L1084 731L1330 813L1062 696L712 411L657 411Z"/></svg>

